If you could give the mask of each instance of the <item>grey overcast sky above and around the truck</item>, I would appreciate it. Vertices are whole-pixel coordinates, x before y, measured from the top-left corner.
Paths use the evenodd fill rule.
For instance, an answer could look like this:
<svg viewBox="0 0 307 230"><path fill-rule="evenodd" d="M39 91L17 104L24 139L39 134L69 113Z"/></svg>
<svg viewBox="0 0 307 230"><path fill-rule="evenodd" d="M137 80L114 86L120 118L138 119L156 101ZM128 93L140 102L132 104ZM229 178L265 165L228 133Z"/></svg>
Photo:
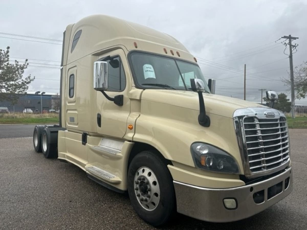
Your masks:
<svg viewBox="0 0 307 230"><path fill-rule="evenodd" d="M299 44L294 66L307 61L307 0L1 0L0 8L0 33L62 40L68 24L91 14L107 14L168 33L197 57L207 79L216 79L216 94L243 98L246 64L247 100L251 101L260 102L261 88L289 95L280 81L289 77L281 36L299 37L294 41ZM0 48L11 47L10 59L29 59L25 76L36 77L29 91L59 92L60 43L0 34ZM307 105L307 99L296 104Z"/></svg>

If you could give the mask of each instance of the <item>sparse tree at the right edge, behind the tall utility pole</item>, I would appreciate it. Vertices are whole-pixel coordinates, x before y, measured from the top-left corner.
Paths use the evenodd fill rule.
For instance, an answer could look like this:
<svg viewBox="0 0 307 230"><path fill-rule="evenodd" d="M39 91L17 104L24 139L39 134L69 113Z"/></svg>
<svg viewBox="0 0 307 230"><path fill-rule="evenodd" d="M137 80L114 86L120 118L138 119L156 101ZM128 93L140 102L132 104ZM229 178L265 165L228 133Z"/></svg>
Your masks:
<svg viewBox="0 0 307 230"><path fill-rule="evenodd" d="M282 81L290 88L290 79L284 78ZM307 62L304 62L294 69L294 90L297 99L307 96Z"/></svg>

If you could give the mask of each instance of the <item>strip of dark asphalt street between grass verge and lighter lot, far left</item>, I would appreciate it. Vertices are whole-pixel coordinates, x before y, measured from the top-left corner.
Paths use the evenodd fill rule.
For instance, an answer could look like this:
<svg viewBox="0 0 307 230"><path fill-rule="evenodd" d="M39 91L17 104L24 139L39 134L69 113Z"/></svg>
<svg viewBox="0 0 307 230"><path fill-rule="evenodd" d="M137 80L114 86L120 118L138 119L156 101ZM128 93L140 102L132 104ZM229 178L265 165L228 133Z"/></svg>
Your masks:
<svg viewBox="0 0 307 230"><path fill-rule="evenodd" d="M0 138L32 136L35 125L0 125Z"/></svg>

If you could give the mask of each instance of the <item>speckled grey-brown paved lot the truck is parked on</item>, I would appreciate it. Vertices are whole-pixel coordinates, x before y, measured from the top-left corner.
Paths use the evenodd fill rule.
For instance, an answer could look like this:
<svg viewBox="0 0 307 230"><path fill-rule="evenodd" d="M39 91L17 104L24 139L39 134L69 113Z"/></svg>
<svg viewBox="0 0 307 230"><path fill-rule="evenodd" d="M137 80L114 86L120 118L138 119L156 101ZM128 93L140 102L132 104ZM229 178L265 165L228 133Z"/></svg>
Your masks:
<svg viewBox="0 0 307 230"><path fill-rule="evenodd" d="M2 126L0 126L0 132ZM162 229L306 229L307 130L290 130L292 194L245 220L215 224L177 214ZM129 197L87 178L80 168L45 159L32 138L0 139L1 229L154 229Z"/></svg>

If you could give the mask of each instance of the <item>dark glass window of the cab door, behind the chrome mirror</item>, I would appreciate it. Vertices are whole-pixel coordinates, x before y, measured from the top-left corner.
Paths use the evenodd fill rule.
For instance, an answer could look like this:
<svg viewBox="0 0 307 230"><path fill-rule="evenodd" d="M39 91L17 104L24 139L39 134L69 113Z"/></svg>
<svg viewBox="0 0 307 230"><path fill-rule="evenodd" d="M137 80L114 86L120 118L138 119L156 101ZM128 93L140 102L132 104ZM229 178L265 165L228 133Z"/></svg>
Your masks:
<svg viewBox="0 0 307 230"><path fill-rule="evenodd" d="M126 75L121 59L113 57L108 63L108 91L123 91L126 88Z"/></svg>

